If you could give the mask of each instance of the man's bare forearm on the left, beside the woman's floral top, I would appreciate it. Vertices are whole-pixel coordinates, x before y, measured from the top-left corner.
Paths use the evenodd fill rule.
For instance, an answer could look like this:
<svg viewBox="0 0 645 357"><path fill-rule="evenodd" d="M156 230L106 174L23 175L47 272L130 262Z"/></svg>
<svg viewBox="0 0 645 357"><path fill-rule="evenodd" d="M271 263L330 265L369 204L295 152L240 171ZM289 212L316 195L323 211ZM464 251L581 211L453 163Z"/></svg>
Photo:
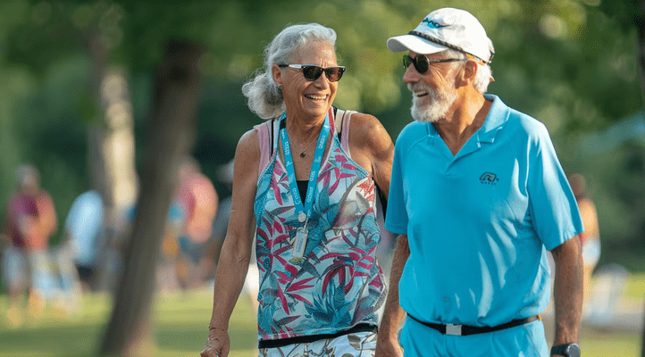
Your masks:
<svg viewBox="0 0 645 357"><path fill-rule="evenodd" d="M403 356L403 351L398 345L398 327L406 317L406 311L398 304L398 281L401 279L403 268L406 266L407 258L410 256L410 247L407 244L407 236L401 235L397 240L397 248L392 258L392 270L390 272L390 291L388 300L385 302L385 311L379 328L379 336L376 343L376 357L381 356Z"/></svg>

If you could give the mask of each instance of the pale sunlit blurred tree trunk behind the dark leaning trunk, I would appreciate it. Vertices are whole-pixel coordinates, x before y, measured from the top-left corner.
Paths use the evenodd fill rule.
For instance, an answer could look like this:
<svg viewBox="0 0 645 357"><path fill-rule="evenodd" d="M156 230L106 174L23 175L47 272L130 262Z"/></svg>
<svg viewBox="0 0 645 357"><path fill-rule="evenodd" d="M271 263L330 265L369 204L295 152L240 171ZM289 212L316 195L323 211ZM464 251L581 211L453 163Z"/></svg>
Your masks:
<svg viewBox="0 0 645 357"><path fill-rule="evenodd" d="M135 165L134 120L128 82L121 71L108 68L107 49L97 32L88 37L88 52L92 58L97 115L88 127L88 168L92 188L103 198L105 229L100 242L101 251L116 250L121 244L118 217L137 198ZM92 288L113 291L115 275L112 254L101 254L96 262L96 281Z"/></svg>

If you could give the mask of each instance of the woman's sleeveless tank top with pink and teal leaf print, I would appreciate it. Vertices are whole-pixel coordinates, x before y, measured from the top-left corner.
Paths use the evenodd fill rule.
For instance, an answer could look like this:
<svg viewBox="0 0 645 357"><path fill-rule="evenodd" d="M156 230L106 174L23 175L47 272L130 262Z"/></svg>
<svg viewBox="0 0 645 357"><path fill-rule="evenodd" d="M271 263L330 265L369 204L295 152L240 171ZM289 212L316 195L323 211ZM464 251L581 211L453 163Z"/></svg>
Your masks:
<svg viewBox="0 0 645 357"><path fill-rule="evenodd" d="M351 115L341 112L339 116ZM344 121L345 139L349 119ZM272 122L256 129L262 125L269 128ZM289 242L303 223L297 220L276 142L255 195L258 338L333 334L357 324L376 325L385 286L375 256L381 233L372 176L352 161L348 145L344 148L334 131L314 190L304 259L294 261Z"/></svg>

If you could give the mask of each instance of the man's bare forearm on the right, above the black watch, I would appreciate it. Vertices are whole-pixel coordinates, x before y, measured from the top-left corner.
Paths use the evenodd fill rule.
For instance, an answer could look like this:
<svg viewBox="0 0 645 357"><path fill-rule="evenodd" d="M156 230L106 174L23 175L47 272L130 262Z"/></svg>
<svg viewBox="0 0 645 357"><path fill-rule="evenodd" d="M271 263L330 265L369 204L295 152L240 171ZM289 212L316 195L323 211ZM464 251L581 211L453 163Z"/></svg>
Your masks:
<svg viewBox="0 0 645 357"><path fill-rule="evenodd" d="M582 316L582 254L580 239L572 237L553 251L556 263L554 299L556 336L553 345L577 344Z"/></svg>

